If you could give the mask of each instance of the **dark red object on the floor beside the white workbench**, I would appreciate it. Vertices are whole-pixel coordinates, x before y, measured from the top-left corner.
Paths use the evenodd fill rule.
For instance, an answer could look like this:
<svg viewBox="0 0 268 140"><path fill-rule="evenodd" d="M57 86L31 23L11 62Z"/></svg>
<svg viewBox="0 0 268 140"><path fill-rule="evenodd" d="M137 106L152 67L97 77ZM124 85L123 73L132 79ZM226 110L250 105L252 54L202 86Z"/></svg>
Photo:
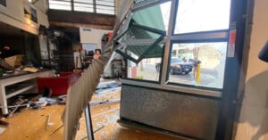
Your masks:
<svg viewBox="0 0 268 140"><path fill-rule="evenodd" d="M60 72L60 77L38 78L38 92L44 87L52 90L52 95L66 95L69 86L73 85L81 76L80 72Z"/></svg>

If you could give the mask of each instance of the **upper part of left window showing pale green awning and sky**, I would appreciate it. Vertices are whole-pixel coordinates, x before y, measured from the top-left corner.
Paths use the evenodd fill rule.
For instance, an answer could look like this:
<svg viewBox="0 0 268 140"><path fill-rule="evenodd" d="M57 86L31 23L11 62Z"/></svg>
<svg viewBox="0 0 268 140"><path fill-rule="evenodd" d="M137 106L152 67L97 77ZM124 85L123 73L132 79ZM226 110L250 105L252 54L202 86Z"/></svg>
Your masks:
<svg viewBox="0 0 268 140"><path fill-rule="evenodd" d="M140 25L166 31L170 19L171 4L171 2L157 4L138 12L134 12L132 20Z"/></svg>

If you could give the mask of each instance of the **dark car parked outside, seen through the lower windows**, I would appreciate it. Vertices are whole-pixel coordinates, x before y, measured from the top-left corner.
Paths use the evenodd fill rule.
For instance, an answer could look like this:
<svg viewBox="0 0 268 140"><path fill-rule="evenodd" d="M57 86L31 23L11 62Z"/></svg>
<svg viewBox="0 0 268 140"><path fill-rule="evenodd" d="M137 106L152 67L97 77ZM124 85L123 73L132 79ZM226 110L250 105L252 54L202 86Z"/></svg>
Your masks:
<svg viewBox="0 0 268 140"><path fill-rule="evenodd" d="M160 63L155 64L156 71L160 70ZM182 62L180 58L172 57L171 65L170 65L170 72L171 74L188 74L192 71L192 63L189 62Z"/></svg>

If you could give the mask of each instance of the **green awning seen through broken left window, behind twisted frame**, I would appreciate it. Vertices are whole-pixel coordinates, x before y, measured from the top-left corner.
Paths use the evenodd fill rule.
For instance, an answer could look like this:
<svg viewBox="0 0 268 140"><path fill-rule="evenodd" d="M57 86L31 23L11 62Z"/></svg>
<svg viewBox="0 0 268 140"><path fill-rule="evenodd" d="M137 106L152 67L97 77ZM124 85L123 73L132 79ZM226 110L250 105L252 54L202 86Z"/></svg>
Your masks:
<svg viewBox="0 0 268 140"><path fill-rule="evenodd" d="M159 5L155 5L131 15L128 29L117 38L124 47L115 50L132 62L140 62L144 58L163 56L163 45L160 42L165 37L163 17Z"/></svg>

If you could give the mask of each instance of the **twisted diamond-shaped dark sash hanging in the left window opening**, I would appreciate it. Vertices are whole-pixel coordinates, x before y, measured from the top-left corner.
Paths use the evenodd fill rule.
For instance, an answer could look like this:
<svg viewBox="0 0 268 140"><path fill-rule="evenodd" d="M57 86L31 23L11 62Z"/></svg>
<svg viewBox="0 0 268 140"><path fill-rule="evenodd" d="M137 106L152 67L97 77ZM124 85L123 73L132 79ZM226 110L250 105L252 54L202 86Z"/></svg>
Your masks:
<svg viewBox="0 0 268 140"><path fill-rule="evenodd" d="M159 57L163 54L163 45L157 45L162 39L164 32L157 29L147 29L147 27L130 23L130 29L120 38L122 49L115 52L132 62L140 62L144 58ZM159 31L159 32L158 32Z"/></svg>

